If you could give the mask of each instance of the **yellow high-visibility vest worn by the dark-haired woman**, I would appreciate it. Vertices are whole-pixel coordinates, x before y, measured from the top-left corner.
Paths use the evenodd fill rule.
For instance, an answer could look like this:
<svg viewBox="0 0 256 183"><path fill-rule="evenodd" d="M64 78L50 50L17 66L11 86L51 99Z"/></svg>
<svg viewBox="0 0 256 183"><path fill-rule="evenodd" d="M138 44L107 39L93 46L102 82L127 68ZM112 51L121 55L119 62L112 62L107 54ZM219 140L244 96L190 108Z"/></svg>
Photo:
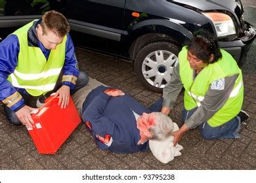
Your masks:
<svg viewBox="0 0 256 183"><path fill-rule="evenodd" d="M204 67L193 80L193 69L187 59L188 49L184 46L179 53L181 82L185 88L184 107L186 110L199 107L210 84L220 78L238 74L234 88L223 107L221 107L207 123L217 127L234 118L241 110L244 100L244 84L242 71L228 52L221 50L223 58Z"/></svg>

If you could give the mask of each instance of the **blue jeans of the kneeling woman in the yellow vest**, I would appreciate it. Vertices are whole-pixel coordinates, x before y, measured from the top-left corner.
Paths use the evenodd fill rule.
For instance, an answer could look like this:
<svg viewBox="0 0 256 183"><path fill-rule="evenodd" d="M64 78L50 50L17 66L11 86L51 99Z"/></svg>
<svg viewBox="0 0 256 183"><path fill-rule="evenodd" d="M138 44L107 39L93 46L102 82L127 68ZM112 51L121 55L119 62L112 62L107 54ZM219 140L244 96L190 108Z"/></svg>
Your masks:
<svg viewBox="0 0 256 183"><path fill-rule="evenodd" d="M185 122L197 108L192 110L182 110L182 122ZM238 132L241 128L241 119L239 116L234 117L230 121L218 127L211 127L207 122L203 122L200 125L200 135L203 139L213 140L213 139L239 139L241 138Z"/></svg>

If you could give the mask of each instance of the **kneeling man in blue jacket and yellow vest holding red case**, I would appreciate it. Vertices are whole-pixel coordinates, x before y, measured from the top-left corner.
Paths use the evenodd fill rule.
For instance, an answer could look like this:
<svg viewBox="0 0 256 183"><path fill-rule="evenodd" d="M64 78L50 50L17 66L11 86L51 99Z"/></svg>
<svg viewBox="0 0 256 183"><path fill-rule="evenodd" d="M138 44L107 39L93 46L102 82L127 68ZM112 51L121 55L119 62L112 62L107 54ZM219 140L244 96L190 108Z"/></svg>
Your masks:
<svg viewBox="0 0 256 183"><path fill-rule="evenodd" d="M56 92L58 105L66 108L70 94L87 84L88 76L77 69L69 31L66 18L52 10L0 43L0 99L12 124L32 127L31 97L38 97L41 107Z"/></svg>

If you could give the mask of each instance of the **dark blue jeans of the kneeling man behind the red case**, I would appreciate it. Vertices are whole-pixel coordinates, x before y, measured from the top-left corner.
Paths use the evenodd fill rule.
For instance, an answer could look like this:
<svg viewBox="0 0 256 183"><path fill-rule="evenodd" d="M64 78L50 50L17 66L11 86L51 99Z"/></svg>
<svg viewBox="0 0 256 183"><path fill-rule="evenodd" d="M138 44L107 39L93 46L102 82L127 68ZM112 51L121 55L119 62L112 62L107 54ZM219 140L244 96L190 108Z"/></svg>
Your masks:
<svg viewBox="0 0 256 183"><path fill-rule="evenodd" d="M61 78L61 77L59 77ZM70 95L73 95L75 92L77 92L77 90L83 88L83 86L85 86L89 81L89 77L86 73L83 72L79 72L79 75L77 76L77 80L74 86L74 89L70 91ZM51 95L51 93L56 92L60 87L62 86L61 83L61 79L58 79L58 81L56 82L56 85L53 89L53 91L46 93L46 95L44 96L45 98L49 97ZM30 97L33 97L31 95L26 95L23 93L20 93L22 95L22 98L25 101L25 104L27 105L28 102L30 101ZM9 107L7 107L6 105L4 105L4 110L5 110L5 114L7 116L7 120L14 125L21 125L22 123L20 122L20 120L18 119L18 117L16 116L15 112L12 111Z"/></svg>

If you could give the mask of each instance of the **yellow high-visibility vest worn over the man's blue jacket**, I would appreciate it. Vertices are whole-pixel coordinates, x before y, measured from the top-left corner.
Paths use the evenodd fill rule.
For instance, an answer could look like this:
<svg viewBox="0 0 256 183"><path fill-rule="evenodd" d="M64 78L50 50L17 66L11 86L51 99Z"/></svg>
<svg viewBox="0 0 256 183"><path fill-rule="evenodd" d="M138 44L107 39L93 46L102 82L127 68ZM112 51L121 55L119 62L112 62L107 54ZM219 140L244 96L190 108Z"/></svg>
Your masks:
<svg viewBox="0 0 256 183"><path fill-rule="evenodd" d="M39 96L53 90L58 80L65 61L67 36L55 50L51 50L47 60L39 47L28 46L28 29L32 25L33 22L30 22L12 33L18 37L20 52L18 65L8 80L12 86L24 88L30 95Z"/></svg>

